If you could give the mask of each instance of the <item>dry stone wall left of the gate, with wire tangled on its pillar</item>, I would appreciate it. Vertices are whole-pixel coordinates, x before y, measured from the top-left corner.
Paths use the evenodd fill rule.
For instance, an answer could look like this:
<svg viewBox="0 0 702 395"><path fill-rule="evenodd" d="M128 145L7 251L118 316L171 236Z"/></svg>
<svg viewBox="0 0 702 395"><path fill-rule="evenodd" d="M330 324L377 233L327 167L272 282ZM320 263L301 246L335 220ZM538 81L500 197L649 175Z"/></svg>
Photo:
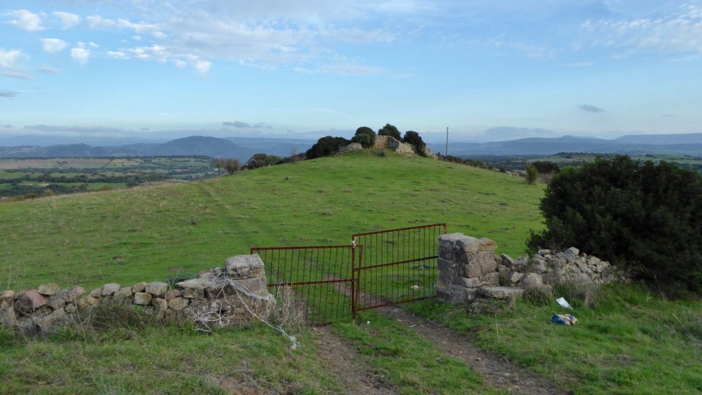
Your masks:
<svg viewBox="0 0 702 395"><path fill-rule="evenodd" d="M227 258L224 268L169 287L167 283L108 283L91 292L56 284L0 292L0 325L27 334L50 332L99 304L133 306L159 318L192 320L201 325L230 325L267 318L274 297L267 291L263 261L258 255Z"/></svg>

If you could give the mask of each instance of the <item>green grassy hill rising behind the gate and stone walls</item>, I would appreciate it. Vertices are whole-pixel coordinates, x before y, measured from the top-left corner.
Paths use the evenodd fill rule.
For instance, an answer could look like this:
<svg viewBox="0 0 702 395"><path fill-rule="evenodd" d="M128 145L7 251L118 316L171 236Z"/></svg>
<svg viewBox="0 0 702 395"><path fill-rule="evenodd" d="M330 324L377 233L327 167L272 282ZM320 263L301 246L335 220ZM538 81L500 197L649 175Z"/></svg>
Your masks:
<svg viewBox="0 0 702 395"><path fill-rule="evenodd" d="M189 183L0 204L0 288L161 280L253 246L350 243L447 222L521 254L541 186L494 171L359 153Z"/></svg>

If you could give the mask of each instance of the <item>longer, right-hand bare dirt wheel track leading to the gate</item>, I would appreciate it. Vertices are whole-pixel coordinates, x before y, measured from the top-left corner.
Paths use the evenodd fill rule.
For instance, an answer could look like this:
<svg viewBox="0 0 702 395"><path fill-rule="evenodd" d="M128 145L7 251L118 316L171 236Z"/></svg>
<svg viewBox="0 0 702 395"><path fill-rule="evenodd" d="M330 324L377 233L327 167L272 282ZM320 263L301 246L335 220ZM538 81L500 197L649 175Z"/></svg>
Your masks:
<svg viewBox="0 0 702 395"><path fill-rule="evenodd" d="M477 349L470 339L441 325L431 323L423 318L413 316L399 307L379 309L386 315L397 319L408 328L420 333L426 339L437 344L445 354L460 359L470 370L483 377L485 384L505 389L510 394L571 394L571 391L556 387L555 383L538 377L530 370L512 365L510 361L495 354Z"/></svg>

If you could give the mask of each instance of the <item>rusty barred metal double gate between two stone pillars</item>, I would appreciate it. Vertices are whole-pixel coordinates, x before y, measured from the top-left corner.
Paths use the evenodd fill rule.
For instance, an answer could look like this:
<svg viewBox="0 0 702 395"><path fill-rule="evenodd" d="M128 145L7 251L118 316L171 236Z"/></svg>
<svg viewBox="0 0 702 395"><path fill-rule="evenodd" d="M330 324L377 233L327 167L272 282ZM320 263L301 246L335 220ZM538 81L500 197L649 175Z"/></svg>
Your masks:
<svg viewBox="0 0 702 395"><path fill-rule="evenodd" d="M436 295L437 247L446 224L357 233L352 245L253 247L267 285L310 325Z"/></svg>

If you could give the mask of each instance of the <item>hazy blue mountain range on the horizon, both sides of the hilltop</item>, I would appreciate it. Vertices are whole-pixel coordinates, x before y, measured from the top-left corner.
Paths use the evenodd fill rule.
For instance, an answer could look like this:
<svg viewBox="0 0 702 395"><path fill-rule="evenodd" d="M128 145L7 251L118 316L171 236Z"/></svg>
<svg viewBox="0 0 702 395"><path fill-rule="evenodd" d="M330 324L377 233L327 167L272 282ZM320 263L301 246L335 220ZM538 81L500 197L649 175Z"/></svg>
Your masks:
<svg viewBox="0 0 702 395"><path fill-rule="evenodd" d="M0 157L116 157L203 155L236 157L249 160L251 155L265 153L286 157L304 153L316 143L295 138L190 136L166 143L132 143L124 145L18 145L0 147ZM430 143L437 153L445 153L445 145ZM702 157L702 133L630 135L605 140L602 138L562 136L557 138L519 138L491 143L449 141L449 155L470 157L479 155L555 155L557 153L615 153L627 155L672 154Z"/></svg>

